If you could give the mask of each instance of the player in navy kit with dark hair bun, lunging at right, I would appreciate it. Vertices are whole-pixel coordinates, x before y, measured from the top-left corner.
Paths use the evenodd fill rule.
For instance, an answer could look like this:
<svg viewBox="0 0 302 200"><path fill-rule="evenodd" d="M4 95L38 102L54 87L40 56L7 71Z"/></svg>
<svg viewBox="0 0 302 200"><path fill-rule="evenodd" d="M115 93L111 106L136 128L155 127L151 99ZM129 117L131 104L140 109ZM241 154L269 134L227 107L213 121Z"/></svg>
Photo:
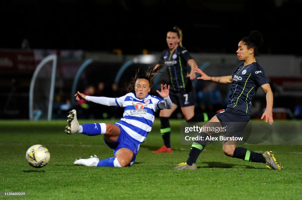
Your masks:
<svg viewBox="0 0 302 200"><path fill-rule="evenodd" d="M245 128L247 122L249 122L252 105L251 100L259 87L266 93L266 109L261 119L265 118L265 122L273 123L273 93L268 80L265 78L264 69L256 63L255 58L255 56L259 55L258 47L261 46L262 43L263 37L258 31L252 31L248 37L244 37L240 40L236 53L238 59L243 61L243 63L231 76L208 76L201 69L195 68L194 71L201 74L201 77L198 77L198 79L218 83L233 83L227 108L211 118L207 125L213 125L211 122L220 122L216 124L225 127L227 122L229 122L228 124L232 124L230 122L242 122L244 123L244 127L238 127L239 123L237 123L237 127L228 127L230 131L240 133ZM212 134L215 134L215 132L201 132L199 136L206 138ZM227 134L228 133L223 133L224 136L228 136ZM262 162L270 169L282 169L270 151L260 154L243 147L236 147L236 144L237 141L223 141L223 152L225 155L233 158L241 158L250 162ZM191 146L187 162L180 163L173 169L197 169L195 163L205 145L206 142L204 141L194 142Z"/></svg>

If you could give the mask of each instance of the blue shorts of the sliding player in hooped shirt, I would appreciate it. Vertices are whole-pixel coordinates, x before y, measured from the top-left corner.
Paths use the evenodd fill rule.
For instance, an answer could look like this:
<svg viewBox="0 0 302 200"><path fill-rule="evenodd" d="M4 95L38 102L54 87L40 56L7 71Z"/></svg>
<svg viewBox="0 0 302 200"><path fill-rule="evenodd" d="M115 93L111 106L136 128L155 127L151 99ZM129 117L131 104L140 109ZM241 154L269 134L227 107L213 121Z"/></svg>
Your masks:
<svg viewBox="0 0 302 200"><path fill-rule="evenodd" d="M117 124L115 124L117 125ZM120 135L118 136L117 140L113 143L107 142L105 139L105 143L113 150L113 154L117 152L117 150L121 148L130 149L133 152L133 159L130 162L130 165L133 164L135 161L138 149L140 148L140 142L134 140L129 134L127 134L126 131L124 131L123 128L120 127L120 125L117 125L120 128Z"/></svg>

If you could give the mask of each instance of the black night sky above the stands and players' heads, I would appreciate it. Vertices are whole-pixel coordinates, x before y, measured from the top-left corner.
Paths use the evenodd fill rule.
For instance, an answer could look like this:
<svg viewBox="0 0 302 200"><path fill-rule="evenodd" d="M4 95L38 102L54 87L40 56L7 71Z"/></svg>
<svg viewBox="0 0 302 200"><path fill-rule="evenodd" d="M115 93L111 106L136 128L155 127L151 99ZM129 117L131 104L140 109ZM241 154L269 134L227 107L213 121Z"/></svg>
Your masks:
<svg viewBox="0 0 302 200"><path fill-rule="evenodd" d="M152 53L177 25L190 52L234 53L258 30L261 53L302 55L301 8L301 0L3 0L0 48L28 38L33 49Z"/></svg>

